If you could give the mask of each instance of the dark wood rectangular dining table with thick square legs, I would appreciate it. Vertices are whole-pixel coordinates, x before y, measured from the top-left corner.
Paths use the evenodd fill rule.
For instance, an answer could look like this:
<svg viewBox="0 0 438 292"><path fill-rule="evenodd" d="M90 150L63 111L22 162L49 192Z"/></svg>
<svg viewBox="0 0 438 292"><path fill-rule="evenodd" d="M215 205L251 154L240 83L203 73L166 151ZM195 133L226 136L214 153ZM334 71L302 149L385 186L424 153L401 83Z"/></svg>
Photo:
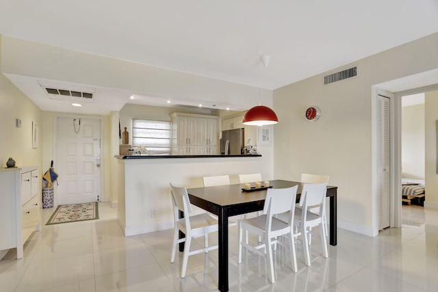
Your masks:
<svg viewBox="0 0 438 292"><path fill-rule="evenodd" d="M270 181L270 186L282 189L285 187L298 186L296 202L300 200L302 183L296 181ZM266 189L257 191L242 191L244 184L221 185L216 187L196 187L188 189L190 203L201 209L209 211L218 216L218 269L220 291L229 291L228 284L228 218L235 215L246 214L263 210L266 199ZM327 187L327 197L330 198L330 244L337 244L337 187ZM183 216L183 213L180 213ZM183 245L179 247L183 251Z"/></svg>

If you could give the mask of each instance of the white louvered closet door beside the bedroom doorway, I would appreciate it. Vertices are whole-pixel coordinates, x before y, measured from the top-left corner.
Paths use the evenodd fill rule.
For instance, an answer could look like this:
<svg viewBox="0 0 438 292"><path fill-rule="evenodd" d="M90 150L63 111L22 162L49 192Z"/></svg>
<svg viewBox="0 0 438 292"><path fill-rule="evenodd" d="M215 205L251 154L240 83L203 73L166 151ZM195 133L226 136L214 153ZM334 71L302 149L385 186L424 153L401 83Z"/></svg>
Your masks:
<svg viewBox="0 0 438 292"><path fill-rule="evenodd" d="M378 229L389 227L389 98L377 96Z"/></svg>

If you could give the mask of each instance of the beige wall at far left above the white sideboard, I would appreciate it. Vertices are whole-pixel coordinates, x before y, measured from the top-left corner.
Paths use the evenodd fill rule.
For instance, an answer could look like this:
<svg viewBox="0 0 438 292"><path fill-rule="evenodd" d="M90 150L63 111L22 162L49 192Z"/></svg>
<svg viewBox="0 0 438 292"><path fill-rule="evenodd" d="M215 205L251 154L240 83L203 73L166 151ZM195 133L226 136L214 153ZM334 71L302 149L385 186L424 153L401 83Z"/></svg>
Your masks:
<svg viewBox="0 0 438 292"><path fill-rule="evenodd" d="M0 58L0 66L2 65ZM15 126L16 118L21 119L20 128ZM37 122L39 125L38 148L36 149L32 148L32 122ZM8 158L12 157L18 167L39 165L41 177L42 133L44 131L42 111L1 74L0 124L0 166L5 167Z"/></svg>

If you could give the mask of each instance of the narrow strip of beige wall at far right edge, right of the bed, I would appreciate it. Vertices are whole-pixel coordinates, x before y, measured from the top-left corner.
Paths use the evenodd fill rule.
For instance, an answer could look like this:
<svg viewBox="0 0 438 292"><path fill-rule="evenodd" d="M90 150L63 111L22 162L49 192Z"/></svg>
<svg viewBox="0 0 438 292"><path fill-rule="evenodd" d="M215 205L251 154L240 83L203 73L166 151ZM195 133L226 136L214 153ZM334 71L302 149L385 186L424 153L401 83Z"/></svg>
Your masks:
<svg viewBox="0 0 438 292"><path fill-rule="evenodd" d="M438 208L437 174L437 120L438 91L426 92L425 107L425 153L426 153L426 202L425 207Z"/></svg>

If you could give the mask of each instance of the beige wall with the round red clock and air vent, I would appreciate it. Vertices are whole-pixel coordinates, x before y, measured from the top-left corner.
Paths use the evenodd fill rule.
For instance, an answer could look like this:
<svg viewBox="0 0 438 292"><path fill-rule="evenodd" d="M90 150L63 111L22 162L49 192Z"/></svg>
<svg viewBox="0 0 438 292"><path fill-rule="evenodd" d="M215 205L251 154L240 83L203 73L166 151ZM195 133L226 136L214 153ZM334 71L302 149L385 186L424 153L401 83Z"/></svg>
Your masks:
<svg viewBox="0 0 438 292"><path fill-rule="evenodd" d="M275 90L274 177L328 174L339 187L338 226L376 235L372 85L438 68L437 47L433 34L339 68L357 66L357 77L324 85L337 69ZM317 122L304 118L310 105L322 111Z"/></svg>

